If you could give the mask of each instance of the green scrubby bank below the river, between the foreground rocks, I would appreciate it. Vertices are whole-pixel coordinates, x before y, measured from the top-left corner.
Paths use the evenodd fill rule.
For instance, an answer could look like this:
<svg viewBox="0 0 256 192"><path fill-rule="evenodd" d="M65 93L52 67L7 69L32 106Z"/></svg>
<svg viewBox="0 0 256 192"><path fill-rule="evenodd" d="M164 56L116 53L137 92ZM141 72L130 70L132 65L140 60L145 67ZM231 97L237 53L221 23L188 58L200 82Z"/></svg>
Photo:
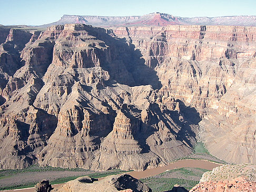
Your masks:
<svg viewBox="0 0 256 192"><path fill-rule="evenodd" d="M179 168L162 174L141 179L153 192L171 190L175 184L191 189L199 183L203 173L208 170L201 168Z"/></svg>

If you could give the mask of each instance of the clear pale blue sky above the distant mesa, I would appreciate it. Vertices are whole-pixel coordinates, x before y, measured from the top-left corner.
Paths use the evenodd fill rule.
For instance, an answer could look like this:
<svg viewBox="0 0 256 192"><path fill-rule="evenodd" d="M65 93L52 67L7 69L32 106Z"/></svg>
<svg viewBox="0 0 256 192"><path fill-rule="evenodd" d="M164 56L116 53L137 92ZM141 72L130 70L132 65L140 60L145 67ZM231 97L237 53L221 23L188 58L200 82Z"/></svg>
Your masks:
<svg viewBox="0 0 256 192"><path fill-rule="evenodd" d="M153 12L181 17L256 15L256 0L0 0L0 24L42 25L62 15L130 16Z"/></svg>

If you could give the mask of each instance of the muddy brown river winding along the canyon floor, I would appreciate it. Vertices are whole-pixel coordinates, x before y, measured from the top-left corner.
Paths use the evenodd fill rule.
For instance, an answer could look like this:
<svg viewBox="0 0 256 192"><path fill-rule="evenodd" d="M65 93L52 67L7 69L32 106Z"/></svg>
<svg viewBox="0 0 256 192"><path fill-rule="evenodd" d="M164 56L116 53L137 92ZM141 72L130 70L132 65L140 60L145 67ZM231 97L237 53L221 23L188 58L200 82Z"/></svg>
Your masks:
<svg viewBox="0 0 256 192"><path fill-rule="evenodd" d="M156 167L151 169L146 169L143 171L132 171L128 173L129 175L135 177L136 179L141 179L145 177L154 176L157 174L161 174L166 170L177 169L177 168L184 168L184 167L192 167L192 168L202 168L212 170L215 167L221 166L222 164L213 163L206 160L195 160L195 159L184 159L184 160L177 160L173 161L169 165L163 167ZM63 184L53 185L53 187L58 187ZM26 188L26 189L14 189L14 190L5 190L6 192L32 192L34 188Z"/></svg>

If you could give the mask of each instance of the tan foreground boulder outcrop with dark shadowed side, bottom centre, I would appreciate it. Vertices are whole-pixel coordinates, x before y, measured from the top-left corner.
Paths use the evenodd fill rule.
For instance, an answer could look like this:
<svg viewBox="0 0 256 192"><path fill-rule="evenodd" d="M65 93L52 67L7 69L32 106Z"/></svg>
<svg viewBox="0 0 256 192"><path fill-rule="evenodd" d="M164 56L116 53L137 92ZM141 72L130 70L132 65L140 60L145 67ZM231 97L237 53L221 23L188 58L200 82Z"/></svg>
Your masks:
<svg viewBox="0 0 256 192"><path fill-rule="evenodd" d="M134 191L134 192L150 192L149 187L143 184L140 180L133 178L130 175L108 176L100 181L90 177L79 177L75 180L68 181L60 188L52 191Z"/></svg>

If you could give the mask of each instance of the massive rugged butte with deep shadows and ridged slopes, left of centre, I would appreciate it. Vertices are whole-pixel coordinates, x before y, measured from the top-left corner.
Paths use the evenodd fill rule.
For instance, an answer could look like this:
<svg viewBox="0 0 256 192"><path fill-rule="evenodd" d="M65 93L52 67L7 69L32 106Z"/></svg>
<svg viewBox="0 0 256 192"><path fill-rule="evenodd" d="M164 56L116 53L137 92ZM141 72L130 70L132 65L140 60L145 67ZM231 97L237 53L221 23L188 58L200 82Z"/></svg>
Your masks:
<svg viewBox="0 0 256 192"><path fill-rule="evenodd" d="M181 102L162 98L154 70L111 31L52 26L21 56L2 94L1 168L141 170L191 153L197 127Z"/></svg>

